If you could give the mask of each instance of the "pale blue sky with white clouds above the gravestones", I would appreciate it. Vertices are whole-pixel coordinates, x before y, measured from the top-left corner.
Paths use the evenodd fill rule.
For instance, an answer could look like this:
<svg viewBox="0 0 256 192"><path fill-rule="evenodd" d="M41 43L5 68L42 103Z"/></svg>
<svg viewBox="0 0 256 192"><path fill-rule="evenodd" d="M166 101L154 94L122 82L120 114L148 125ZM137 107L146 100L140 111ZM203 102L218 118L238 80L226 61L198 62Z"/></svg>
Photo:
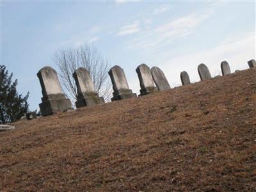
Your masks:
<svg viewBox="0 0 256 192"><path fill-rule="evenodd" d="M248 68L255 59L255 1L3 1L1 65L29 92L29 109L38 108L42 91L36 73L57 68L58 49L93 44L109 65L124 68L129 87L140 92L136 67L161 68L171 87L180 72L200 81L205 63L221 74Z"/></svg>

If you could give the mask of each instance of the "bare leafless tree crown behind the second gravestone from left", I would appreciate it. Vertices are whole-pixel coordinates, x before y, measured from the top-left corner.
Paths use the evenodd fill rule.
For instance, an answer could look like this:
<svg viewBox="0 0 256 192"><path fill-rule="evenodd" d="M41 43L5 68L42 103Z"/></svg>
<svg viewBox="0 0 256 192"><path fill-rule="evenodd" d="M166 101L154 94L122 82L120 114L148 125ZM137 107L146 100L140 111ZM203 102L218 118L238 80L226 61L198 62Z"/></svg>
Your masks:
<svg viewBox="0 0 256 192"><path fill-rule="evenodd" d="M79 67L84 67L90 72L96 92L109 101L111 83L108 78L108 60L104 59L93 45L60 49L55 52L53 60L58 66L63 92L73 103L76 100L77 88L72 74Z"/></svg>

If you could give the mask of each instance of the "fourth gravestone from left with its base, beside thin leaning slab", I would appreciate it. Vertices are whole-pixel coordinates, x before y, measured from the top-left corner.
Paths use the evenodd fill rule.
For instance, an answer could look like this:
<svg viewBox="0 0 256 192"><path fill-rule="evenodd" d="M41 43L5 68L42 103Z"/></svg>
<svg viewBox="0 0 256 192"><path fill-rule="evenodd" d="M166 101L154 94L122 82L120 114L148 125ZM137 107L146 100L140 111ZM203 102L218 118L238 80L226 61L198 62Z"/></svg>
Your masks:
<svg viewBox="0 0 256 192"><path fill-rule="evenodd" d="M146 64L141 64L136 68L140 80L140 95L147 95L148 93L156 92L157 88L154 85L153 77L150 68Z"/></svg>

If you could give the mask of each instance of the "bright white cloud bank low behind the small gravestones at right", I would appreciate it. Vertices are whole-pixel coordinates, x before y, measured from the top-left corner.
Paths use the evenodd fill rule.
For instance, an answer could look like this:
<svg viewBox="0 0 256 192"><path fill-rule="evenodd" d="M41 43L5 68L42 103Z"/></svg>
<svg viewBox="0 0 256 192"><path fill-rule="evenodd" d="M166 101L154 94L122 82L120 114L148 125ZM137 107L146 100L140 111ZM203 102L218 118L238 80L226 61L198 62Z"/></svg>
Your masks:
<svg viewBox="0 0 256 192"><path fill-rule="evenodd" d="M148 65L148 67L151 68L155 65L161 68L173 88L181 85L180 72L183 70L188 72L191 82L200 81L197 72L197 66L200 63L207 65L212 77L221 74L220 63L224 60L229 63L231 72L237 69L249 68L247 61L256 57L255 40L255 31L252 31L240 36L233 36L230 40L220 42L211 49L184 54L176 58L165 58L163 61L157 61L157 63L163 64L156 63ZM168 51L165 54L168 55ZM133 78L128 80L132 91L139 93L140 82L138 77L133 74Z"/></svg>

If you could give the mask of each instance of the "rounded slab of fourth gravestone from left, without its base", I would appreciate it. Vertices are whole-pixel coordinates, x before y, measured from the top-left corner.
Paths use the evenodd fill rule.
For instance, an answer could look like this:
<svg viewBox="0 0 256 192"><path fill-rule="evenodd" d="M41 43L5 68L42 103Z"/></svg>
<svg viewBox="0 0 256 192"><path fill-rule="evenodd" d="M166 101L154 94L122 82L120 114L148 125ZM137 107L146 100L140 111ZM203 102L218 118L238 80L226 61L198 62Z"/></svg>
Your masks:
<svg viewBox="0 0 256 192"><path fill-rule="evenodd" d="M155 86L150 68L145 63L139 65L136 68L136 72L140 80L141 89Z"/></svg>

